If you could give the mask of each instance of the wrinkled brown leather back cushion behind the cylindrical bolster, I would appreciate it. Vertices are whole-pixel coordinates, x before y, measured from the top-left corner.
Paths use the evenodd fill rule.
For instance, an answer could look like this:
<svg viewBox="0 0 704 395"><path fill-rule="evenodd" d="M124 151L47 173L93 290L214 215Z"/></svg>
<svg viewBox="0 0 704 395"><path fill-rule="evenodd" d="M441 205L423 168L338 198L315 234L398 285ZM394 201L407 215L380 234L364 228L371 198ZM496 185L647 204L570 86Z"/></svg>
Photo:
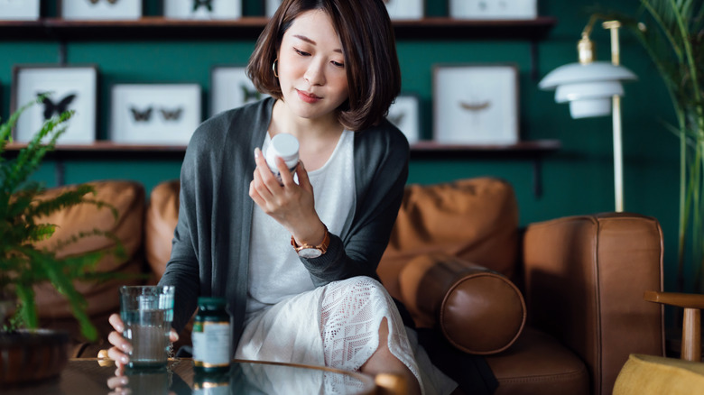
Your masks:
<svg viewBox="0 0 704 395"><path fill-rule="evenodd" d="M503 179L409 185L377 272L397 299L398 273L421 254L457 256L512 278L517 227L514 189Z"/></svg>

